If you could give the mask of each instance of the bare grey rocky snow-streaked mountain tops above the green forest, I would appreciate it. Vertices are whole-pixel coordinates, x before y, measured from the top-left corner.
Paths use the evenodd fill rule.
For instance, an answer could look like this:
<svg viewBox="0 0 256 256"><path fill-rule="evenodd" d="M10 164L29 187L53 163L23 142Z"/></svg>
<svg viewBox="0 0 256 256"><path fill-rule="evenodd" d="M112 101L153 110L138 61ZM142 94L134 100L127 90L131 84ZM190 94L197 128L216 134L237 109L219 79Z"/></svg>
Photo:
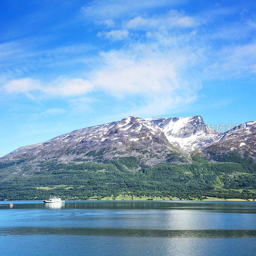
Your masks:
<svg viewBox="0 0 256 256"><path fill-rule="evenodd" d="M168 160L170 154L188 158L187 153L193 150L213 146L225 150L255 148L255 125L256 121L248 122L243 124L240 132L235 127L220 133L208 127L201 116L148 119L129 116L121 121L76 130L42 143L21 147L0 159L57 157L70 161L101 154L106 159L123 155L159 162ZM95 153L99 151L101 153ZM174 159L178 161L179 157Z"/></svg>

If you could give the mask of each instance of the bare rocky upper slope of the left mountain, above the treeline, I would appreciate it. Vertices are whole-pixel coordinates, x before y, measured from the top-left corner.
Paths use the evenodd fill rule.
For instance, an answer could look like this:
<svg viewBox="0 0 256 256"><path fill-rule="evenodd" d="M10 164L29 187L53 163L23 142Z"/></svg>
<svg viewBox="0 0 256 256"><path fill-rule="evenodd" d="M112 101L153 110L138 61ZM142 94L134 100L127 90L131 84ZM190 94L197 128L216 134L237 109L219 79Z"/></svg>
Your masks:
<svg viewBox="0 0 256 256"><path fill-rule="evenodd" d="M169 143L153 122L130 116L118 122L76 130L43 143L21 147L0 159L35 161L57 157L59 160L71 161L78 157L92 160L122 155L140 156L150 164L168 161L170 154L176 155L178 162L179 158L188 158L183 150Z"/></svg>

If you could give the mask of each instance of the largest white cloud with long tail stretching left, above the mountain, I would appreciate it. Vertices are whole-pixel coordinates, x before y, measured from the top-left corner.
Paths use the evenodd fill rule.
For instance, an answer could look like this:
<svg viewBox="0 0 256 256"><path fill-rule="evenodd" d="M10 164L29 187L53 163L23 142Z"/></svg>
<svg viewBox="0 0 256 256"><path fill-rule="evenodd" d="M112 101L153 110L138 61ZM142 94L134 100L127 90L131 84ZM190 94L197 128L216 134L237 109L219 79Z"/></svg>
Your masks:
<svg viewBox="0 0 256 256"><path fill-rule="evenodd" d="M202 61L204 48L193 47L190 34L175 36L163 30L151 32L146 38L143 43L136 41L119 50L100 52L100 65L88 75L89 79L60 77L45 84L26 78L11 81L4 88L31 98L70 98L93 91L115 98L136 96L140 97L135 105L138 114L153 110L163 113L195 100L201 83L189 69Z"/></svg>

